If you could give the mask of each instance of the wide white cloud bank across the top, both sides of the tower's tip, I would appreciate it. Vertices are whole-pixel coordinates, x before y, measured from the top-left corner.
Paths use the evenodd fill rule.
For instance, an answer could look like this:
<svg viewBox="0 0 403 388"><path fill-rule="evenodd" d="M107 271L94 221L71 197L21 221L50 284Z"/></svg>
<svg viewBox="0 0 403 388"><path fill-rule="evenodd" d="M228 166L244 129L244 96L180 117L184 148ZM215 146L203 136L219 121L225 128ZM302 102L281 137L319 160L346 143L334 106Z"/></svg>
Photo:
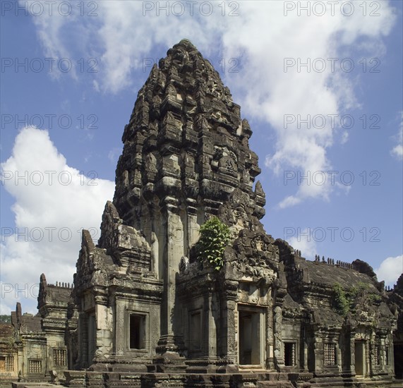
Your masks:
<svg viewBox="0 0 403 388"><path fill-rule="evenodd" d="M235 69L239 73L230 73L227 66L225 75L231 91L240 96L237 102L275 130L275 151L267 155L266 166L277 174L284 169L304 175L331 170L327 150L341 126L340 117L361 106L354 93L359 75L347 70L351 62L360 68L356 52L366 57L385 52L383 37L396 19L390 2L380 2L378 10L373 9L377 2L355 4L352 13L342 6L345 2L203 3L212 8L200 9L200 4L191 6L188 1L99 1L96 18L43 16L35 17L35 24L45 52L54 55L68 53L76 44L64 34L66 29L91 37L80 38L75 49L100 58L102 75L94 85L104 92L129 87L134 71L145 61L155 61L151 57L155 47L162 50L186 37L205 56L220 51L227 65L231 59L239 64ZM323 11L319 8L311 9L311 16L299 10L317 3L325 4L323 15L318 16ZM168 8L161 8L166 4ZM370 17L374 12L376 17ZM323 123L320 117L325 117ZM342 142L347 140L342 135ZM401 148L392 152L400 154ZM330 182L302 184L279 207L308 198L329 200L335 187Z"/></svg>

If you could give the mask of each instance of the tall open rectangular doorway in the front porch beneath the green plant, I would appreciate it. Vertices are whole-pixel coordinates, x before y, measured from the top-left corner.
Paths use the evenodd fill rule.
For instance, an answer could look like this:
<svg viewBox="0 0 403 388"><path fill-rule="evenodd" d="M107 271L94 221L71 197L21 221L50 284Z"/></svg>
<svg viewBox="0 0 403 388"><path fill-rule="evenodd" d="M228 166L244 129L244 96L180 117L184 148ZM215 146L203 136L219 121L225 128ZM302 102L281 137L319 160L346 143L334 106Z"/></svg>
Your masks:
<svg viewBox="0 0 403 388"><path fill-rule="evenodd" d="M239 364L261 365L262 327L260 311L239 311Z"/></svg>

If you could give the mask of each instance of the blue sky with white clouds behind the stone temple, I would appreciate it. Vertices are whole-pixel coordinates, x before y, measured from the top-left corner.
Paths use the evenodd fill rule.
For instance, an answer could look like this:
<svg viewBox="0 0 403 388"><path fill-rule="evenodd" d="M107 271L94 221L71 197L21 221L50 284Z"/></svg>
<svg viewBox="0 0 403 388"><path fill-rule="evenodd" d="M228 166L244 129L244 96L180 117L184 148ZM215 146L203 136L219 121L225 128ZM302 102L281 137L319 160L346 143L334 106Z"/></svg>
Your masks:
<svg viewBox="0 0 403 388"><path fill-rule="evenodd" d="M2 1L1 313L35 311L42 272L72 281L137 92L183 38L251 124L267 233L308 260L366 260L392 286L402 35L401 1Z"/></svg>

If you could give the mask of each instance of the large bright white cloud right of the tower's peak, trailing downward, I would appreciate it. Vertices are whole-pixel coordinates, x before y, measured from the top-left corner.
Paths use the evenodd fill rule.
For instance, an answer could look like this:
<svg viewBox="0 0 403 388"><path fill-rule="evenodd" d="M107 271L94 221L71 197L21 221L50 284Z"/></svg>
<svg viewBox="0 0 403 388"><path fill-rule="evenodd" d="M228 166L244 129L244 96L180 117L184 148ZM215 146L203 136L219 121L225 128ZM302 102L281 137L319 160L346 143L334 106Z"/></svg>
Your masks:
<svg viewBox="0 0 403 388"><path fill-rule="evenodd" d="M302 2L298 3L302 6ZM229 53L227 56L246 51L244 58L247 63L243 63L243 71L235 83L241 90L238 94L245 95L246 107L269 121L277 133L275 153L267 156L266 166L277 174L282 173L284 167L291 167L302 176L306 176L308 171L313 174L331 170L327 149L334 142L339 120L333 125L328 115L340 118L346 113L345 109L360 107L354 95L357 81L342 71L341 63L344 58L351 57L355 66L359 66L351 55L354 45L360 44L361 49L371 50L371 44L363 47L359 40L377 42L376 52L380 51L383 47L380 37L390 31L394 20L390 7L383 2L385 13L370 23L359 13L354 13L351 18L343 17L340 12L336 12L334 17L306 18L294 12L281 18L282 3L279 1L259 2L261 6L256 2L247 4L250 8L255 7L255 11L248 11L253 16L242 29L236 23L227 29L225 48ZM243 34L243 30L248 33ZM349 45L349 50L345 44ZM330 58L337 59L335 71L332 71ZM321 63L327 66L323 73L313 70L315 59L318 64L315 68L319 68ZM311 61L311 67L301 66L298 71L299 61ZM287 72L284 71L284 62L290 65ZM315 115L325 116L324 126L320 121L313 121ZM308 124L303 122L306 119ZM343 139L346 140L345 136ZM297 205L307 198L329 200L335 187L330 181L319 186L300 185L294 195L279 203L279 207Z"/></svg>

